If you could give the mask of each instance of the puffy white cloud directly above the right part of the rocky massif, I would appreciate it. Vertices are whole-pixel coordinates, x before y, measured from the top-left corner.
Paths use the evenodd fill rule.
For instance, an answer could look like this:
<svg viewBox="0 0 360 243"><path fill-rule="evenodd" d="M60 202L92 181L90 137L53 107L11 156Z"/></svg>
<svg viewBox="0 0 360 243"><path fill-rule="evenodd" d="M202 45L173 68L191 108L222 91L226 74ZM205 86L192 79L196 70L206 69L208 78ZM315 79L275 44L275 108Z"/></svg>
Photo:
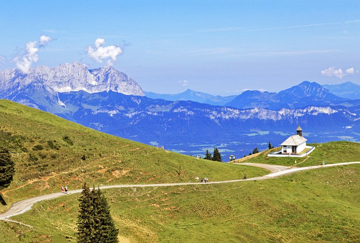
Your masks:
<svg viewBox="0 0 360 243"><path fill-rule="evenodd" d="M119 46L108 45L103 46L105 44L105 39L97 38L95 40L95 46L89 45L87 48L87 53L89 56L97 61L98 63L102 63L103 60L107 59L107 64L112 65L113 61L116 61L116 57L121 55L123 51Z"/></svg>

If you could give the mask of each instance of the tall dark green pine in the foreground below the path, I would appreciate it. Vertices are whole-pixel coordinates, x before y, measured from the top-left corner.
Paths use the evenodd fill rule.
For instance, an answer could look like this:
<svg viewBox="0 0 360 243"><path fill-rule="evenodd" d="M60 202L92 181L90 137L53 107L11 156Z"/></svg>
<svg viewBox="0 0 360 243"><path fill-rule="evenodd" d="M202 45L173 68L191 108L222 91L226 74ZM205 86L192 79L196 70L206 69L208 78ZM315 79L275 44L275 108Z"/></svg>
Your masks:
<svg viewBox="0 0 360 243"><path fill-rule="evenodd" d="M117 243L118 229L115 228L108 201L100 188L90 191L84 184L79 201L77 242Z"/></svg>

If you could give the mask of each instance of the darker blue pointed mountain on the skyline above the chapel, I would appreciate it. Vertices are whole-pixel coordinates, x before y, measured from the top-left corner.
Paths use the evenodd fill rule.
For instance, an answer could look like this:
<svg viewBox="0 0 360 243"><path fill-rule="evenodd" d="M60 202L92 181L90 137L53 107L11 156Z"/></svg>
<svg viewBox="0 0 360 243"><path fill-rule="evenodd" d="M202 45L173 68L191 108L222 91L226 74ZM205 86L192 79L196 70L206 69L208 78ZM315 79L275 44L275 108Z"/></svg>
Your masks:
<svg viewBox="0 0 360 243"><path fill-rule="evenodd" d="M225 105L242 109L262 107L278 110L308 105L352 106L355 104L360 104L360 101L350 101L349 99L338 97L316 82L304 81L279 93L245 91Z"/></svg>

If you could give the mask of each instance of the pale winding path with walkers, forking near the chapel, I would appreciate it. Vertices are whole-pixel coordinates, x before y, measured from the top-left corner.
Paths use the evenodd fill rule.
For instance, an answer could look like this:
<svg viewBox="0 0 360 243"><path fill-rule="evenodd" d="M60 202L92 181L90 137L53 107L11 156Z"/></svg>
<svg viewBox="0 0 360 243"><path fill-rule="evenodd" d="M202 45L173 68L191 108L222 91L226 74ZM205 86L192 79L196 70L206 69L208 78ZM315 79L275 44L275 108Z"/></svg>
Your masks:
<svg viewBox="0 0 360 243"><path fill-rule="evenodd" d="M345 163L337 163L337 164L328 164L328 165L320 165L320 166L309 166L309 167L302 167L302 168L290 168L286 166L278 166L278 165L267 165L267 164L255 164L255 163L238 163L238 165L247 165L247 166L256 166L267 169L272 173L249 178L247 180L264 180L264 179L271 179L275 178L284 174L290 174L298 171L306 171L312 169L319 169L319 168L327 168L333 166L343 166L343 165L351 165L351 164L360 164L360 162L345 162ZM100 186L100 189L109 189L109 188L125 188L125 187L159 187L159 186L182 186L182 185L207 185L207 184L220 184L220 183L230 183L230 182L238 182L238 181L245 181L244 179L238 180L225 180L225 181L214 181L208 183L199 183L199 182L184 182L184 183L161 183L161 184L134 184L134 185L110 185L110 186ZM69 191L69 194L73 193L80 193L82 189ZM31 209L31 207L37 203L44 200L49 200L61 196L65 196L67 194L64 193L52 193L48 195L42 195L30 199L26 199L20 202L15 203L7 212L0 214L0 220L7 220L8 218L22 214Z"/></svg>

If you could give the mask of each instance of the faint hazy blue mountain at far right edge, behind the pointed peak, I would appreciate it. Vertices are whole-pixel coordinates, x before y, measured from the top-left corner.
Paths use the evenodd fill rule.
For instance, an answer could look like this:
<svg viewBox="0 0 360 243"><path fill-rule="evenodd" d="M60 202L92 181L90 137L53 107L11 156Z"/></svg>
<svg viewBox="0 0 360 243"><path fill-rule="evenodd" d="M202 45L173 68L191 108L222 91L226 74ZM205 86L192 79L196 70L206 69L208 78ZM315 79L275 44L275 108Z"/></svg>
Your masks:
<svg viewBox="0 0 360 243"><path fill-rule="evenodd" d="M330 93L339 97L348 98L351 100L360 99L360 85L352 82L341 84L324 84L324 88L328 89Z"/></svg>

